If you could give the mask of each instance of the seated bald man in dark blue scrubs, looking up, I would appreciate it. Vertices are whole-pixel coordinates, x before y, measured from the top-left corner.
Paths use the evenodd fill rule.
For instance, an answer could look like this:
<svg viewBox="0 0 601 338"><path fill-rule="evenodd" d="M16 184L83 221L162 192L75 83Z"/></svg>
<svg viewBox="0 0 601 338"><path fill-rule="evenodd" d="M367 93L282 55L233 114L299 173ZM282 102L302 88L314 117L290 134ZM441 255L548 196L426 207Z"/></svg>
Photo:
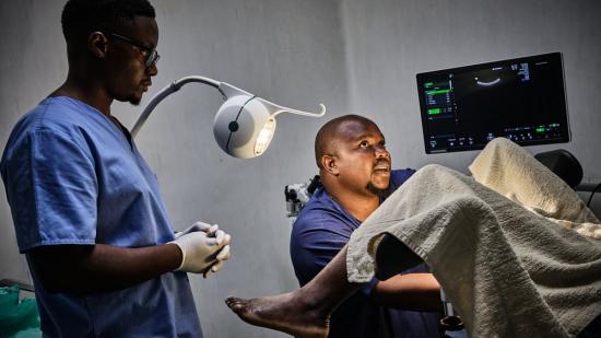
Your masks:
<svg viewBox="0 0 601 338"><path fill-rule="evenodd" d="M315 140L322 186L298 214L291 256L308 283L351 234L415 171L391 170L385 138L372 120L346 115L328 121ZM373 279L331 315L329 337L437 337L439 285L424 265L386 281Z"/></svg>

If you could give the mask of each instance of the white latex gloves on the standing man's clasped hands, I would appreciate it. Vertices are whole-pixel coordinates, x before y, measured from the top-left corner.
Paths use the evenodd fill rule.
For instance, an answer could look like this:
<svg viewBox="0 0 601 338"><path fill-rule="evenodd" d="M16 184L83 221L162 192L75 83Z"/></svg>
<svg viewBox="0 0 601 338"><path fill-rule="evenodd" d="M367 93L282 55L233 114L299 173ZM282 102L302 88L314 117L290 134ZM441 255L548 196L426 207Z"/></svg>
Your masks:
<svg viewBox="0 0 601 338"><path fill-rule="evenodd" d="M227 245L226 237L228 235L226 236L222 230L208 233L201 230L205 229L204 225L198 225L197 228L201 229L195 230L195 225L176 234L176 238L169 243L176 244L181 250L181 264L177 270L200 273L205 272L217 263L216 256ZM216 225L213 226L216 228ZM207 231L212 230L213 226Z"/></svg>

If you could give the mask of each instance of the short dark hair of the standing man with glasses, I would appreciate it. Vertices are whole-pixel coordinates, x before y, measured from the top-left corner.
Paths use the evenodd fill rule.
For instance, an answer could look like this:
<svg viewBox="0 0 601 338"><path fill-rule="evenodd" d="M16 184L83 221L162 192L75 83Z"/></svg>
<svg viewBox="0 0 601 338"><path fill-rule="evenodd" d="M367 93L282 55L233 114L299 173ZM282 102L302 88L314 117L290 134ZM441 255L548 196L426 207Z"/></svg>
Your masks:
<svg viewBox="0 0 601 338"><path fill-rule="evenodd" d="M134 16L155 18L148 0L69 0L62 9L62 34L68 43L83 42L92 32L113 31Z"/></svg>

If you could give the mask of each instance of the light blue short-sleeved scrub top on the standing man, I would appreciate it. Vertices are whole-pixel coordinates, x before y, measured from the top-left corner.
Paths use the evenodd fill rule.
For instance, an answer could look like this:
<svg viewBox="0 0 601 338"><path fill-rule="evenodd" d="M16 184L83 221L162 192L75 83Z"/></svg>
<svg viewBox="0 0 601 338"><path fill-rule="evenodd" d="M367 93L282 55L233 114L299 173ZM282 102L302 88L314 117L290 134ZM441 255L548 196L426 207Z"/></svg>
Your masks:
<svg viewBox="0 0 601 338"><path fill-rule="evenodd" d="M44 100L14 127L0 162L21 253L40 245L142 247L174 238L158 182L133 140L78 100ZM188 277L168 272L86 295L37 282L50 337L202 337Z"/></svg>

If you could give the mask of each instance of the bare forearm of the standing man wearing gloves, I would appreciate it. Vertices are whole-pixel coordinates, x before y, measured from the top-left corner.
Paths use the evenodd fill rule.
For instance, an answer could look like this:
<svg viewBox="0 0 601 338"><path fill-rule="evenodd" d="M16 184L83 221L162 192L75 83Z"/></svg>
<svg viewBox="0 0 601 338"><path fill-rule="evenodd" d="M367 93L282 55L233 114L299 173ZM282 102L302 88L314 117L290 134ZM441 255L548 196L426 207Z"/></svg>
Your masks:
<svg viewBox="0 0 601 338"><path fill-rule="evenodd" d="M45 289L72 293L125 289L175 270L181 263L181 252L174 244L52 245L35 248L28 257Z"/></svg>

